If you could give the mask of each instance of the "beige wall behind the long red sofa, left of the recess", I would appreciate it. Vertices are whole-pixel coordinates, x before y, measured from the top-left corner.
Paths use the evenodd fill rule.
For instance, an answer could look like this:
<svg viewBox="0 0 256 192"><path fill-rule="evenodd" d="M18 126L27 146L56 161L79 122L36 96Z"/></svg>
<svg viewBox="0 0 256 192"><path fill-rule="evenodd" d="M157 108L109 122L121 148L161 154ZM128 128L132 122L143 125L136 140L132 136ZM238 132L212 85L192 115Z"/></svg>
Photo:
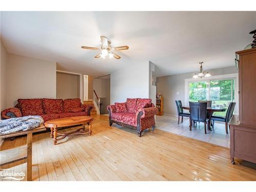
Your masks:
<svg viewBox="0 0 256 192"><path fill-rule="evenodd" d="M56 62L8 54L7 107L18 98L56 98Z"/></svg>

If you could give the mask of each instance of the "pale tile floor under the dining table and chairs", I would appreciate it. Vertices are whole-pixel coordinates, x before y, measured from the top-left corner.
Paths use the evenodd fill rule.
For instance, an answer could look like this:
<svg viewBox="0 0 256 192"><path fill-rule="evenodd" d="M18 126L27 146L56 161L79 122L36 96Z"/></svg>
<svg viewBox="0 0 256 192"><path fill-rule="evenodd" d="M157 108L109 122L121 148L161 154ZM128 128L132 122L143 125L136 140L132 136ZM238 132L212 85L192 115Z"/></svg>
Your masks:
<svg viewBox="0 0 256 192"><path fill-rule="evenodd" d="M204 123L197 123L195 127L192 127L192 131L189 131L188 118L184 118L183 123L178 124L178 117L172 115L156 116L156 125L156 129L212 144L224 147L229 147L230 144L229 134L226 134L223 123L215 122L215 128L212 131L207 130L207 134L204 133Z"/></svg>

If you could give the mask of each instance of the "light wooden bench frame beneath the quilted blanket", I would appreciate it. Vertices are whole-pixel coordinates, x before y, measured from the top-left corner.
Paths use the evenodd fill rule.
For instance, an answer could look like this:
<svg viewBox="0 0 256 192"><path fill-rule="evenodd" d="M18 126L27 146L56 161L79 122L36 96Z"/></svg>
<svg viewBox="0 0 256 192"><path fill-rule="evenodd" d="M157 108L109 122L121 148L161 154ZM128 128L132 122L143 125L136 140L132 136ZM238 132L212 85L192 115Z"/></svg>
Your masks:
<svg viewBox="0 0 256 192"><path fill-rule="evenodd" d="M46 131L46 127L44 125L36 127L33 130L19 131L15 133L0 135L0 139L27 135L27 147L16 147L12 150L6 150L1 152L0 168L6 169L23 163L27 163L27 181L32 181L32 134L41 131ZM24 153L25 150L27 150L26 155Z"/></svg>

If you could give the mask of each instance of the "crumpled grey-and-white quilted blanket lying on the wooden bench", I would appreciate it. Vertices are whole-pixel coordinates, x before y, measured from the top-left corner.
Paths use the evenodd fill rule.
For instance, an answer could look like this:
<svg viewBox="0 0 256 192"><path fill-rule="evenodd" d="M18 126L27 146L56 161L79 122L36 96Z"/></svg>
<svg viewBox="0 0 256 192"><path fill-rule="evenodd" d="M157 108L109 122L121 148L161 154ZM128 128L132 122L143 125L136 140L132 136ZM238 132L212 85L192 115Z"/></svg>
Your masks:
<svg viewBox="0 0 256 192"><path fill-rule="evenodd" d="M0 134L32 130L44 123L40 116L24 116L0 121Z"/></svg>

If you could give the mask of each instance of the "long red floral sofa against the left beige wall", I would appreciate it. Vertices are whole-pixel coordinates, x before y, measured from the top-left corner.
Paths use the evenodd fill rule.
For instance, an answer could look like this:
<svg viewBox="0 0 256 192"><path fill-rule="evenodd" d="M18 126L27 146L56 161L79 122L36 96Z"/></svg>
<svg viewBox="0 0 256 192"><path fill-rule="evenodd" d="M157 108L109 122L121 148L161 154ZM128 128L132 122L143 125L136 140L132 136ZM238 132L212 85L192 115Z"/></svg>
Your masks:
<svg viewBox="0 0 256 192"><path fill-rule="evenodd" d="M45 121L63 117L90 116L93 105L81 104L80 99L18 99L14 108L1 112L2 119L39 115Z"/></svg>

